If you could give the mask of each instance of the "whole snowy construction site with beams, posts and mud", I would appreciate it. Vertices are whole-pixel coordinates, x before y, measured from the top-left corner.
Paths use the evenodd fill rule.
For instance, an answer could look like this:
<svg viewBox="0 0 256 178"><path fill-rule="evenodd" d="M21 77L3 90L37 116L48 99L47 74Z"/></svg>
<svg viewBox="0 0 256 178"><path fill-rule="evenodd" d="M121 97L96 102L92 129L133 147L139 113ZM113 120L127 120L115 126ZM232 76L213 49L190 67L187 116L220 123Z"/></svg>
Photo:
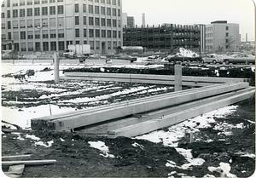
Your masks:
<svg viewBox="0 0 256 178"><path fill-rule="evenodd" d="M254 66L53 58L3 63L5 175L253 175Z"/></svg>

